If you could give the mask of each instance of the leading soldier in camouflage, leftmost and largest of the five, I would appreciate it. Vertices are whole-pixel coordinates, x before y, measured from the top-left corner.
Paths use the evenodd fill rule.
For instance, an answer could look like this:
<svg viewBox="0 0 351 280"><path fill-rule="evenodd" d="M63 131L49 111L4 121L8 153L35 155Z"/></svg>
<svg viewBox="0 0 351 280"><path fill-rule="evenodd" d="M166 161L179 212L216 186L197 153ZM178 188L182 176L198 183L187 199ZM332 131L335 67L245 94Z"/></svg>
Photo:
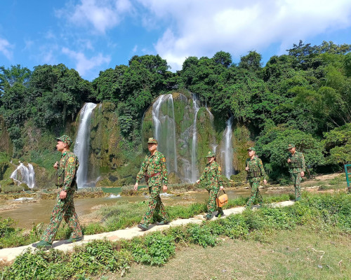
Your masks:
<svg viewBox="0 0 351 280"><path fill-rule="evenodd" d="M69 225L69 228L73 230L71 237L69 237L66 243L68 244L83 239L83 233L81 232L81 226L79 225L78 216L73 203L74 193L77 190L76 173L79 167L78 158L74 153L69 151L72 140L67 135L62 135L62 137L57 138L57 140L58 144L56 148L62 155L60 162L55 162L53 167L57 169L56 186L58 186L60 191L58 192L56 204L51 213L51 221L48 228L44 232L41 241L34 244L37 248L51 248L62 217Z"/></svg>

